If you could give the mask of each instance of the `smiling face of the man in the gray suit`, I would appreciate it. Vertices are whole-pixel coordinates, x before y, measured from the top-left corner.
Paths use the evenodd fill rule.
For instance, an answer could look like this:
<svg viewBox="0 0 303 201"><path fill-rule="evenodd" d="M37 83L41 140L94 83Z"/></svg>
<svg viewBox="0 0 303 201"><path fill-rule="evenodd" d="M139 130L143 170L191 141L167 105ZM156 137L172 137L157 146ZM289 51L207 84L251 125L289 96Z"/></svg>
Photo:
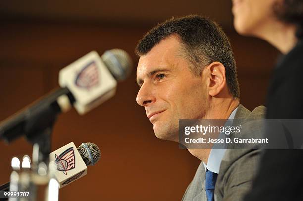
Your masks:
<svg viewBox="0 0 303 201"><path fill-rule="evenodd" d="M179 119L204 116L209 98L205 80L203 74L195 76L190 70L176 36L162 40L140 57L137 103L144 106L158 138L178 141Z"/></svg>

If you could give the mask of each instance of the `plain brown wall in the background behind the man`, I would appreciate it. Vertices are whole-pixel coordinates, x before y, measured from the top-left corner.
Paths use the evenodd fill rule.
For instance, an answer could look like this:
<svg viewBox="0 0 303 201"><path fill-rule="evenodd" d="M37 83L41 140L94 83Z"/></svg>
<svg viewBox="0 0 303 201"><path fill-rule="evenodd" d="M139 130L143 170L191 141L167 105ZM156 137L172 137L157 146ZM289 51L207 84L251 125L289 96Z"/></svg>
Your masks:
<svg viewBox="0 0 303 201"><path fill-rule="evenodd" d="M5 22L0 32L0 121L58 86L58 71L91 50L102 54L133 50L147 27L50 22ZM241 102L263 104L277 52L268 44L228 32L238 63ZM53 150L73 141L94 142L101 160L88 175L60 190L60 200L175 201L195 174L199 160L178 144L157 139L144 108L135 101L135 71L119 83L117 94L90 113L59 116ZM24 139L0 142L0 184L9 180L14 155L31 155Z"/></svg>

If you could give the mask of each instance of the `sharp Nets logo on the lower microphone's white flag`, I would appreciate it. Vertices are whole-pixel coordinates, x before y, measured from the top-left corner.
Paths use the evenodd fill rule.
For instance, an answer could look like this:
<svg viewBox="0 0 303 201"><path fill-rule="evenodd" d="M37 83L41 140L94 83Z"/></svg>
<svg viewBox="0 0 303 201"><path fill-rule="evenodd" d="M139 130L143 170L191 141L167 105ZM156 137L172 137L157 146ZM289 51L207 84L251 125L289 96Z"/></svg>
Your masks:
<svg viewBox="0 0 303 201"><path fill-rule="evenodd" d="M62 171L67 175L67 171L74 169L76 166L74 148L70 147L59 156L55 154L55 163L57 164L57 169Z"/></svg>

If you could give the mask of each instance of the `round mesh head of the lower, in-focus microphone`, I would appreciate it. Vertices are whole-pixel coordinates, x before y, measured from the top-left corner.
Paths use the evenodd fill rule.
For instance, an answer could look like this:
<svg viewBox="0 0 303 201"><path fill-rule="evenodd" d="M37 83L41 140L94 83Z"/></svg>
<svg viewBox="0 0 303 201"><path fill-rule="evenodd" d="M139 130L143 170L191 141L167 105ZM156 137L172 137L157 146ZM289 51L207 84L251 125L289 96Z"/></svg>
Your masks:
<svg viewBox="0 0 303 201"><path fill-rule="evenodd" d="M87 166L95 165L100 159L100 149L92 142L82 143L77 149Z"/></svg>

